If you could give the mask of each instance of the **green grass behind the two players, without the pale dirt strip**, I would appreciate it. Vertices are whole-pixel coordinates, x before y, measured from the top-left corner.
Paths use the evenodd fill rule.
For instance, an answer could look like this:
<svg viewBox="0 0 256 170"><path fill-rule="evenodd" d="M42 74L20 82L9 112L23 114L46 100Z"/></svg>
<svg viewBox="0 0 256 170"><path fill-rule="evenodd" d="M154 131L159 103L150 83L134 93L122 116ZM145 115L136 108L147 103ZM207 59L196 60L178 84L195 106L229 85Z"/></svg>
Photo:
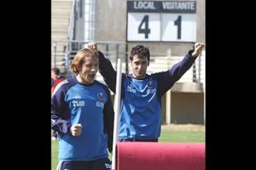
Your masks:
<svg viewBox="0 0 256 170"><path fill-rule="evenodd" d="M205 132L182 132L162 130L159 142L205 142ZM111 159L111 154L109 154ZM58 164L58 142L51 142L51 170Z"/></svg>

